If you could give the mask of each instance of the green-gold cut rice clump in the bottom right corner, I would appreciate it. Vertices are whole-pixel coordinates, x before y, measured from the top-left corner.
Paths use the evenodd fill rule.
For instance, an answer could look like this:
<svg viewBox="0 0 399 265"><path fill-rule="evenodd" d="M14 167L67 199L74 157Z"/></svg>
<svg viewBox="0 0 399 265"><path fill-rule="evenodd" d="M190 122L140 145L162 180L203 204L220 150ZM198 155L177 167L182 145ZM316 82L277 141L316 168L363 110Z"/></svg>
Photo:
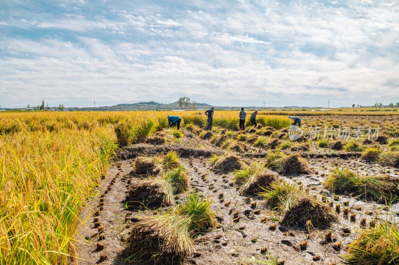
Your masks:
<svg viewBox="0 0 399 265"><path fill-rule="evenodd" d="M384 223L364 229L348 245L344 258L352 264L399 264L399 231L395 224Z"/></svg>

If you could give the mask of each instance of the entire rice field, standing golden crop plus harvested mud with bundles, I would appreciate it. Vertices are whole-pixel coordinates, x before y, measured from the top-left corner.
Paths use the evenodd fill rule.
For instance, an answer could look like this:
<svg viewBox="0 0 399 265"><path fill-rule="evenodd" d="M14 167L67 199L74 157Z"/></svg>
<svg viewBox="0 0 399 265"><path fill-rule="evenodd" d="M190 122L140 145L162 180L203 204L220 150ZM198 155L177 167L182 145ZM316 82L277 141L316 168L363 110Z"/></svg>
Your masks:
<svg viewBox="0 0 399 265"><path fill-rule="evenodd" d="M291 141L291 120L270 113L241 132L236 111L215 111L212 132L194 111L0 114L0 263L396 264L395 241L378 244L397 239L398 116L312 113L305 132L378 125L381 137ZM126 232L118 251L111 231Z"/></svg>

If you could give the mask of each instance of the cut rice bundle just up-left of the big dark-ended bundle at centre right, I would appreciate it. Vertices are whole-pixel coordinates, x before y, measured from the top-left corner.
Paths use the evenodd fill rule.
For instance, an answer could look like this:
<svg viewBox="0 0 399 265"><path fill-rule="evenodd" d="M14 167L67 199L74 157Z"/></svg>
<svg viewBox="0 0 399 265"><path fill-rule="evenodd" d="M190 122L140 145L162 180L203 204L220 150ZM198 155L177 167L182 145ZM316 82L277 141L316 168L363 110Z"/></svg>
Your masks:
<svg viewBox="0 0 399 265"><path fill-rule="evenodd" d="M258 162L245 165L241 170L235 170L233 176L234 180L241 184L238 191L241 195L254 195L278 179L275 173L267 171L264 165Z"/></svg>

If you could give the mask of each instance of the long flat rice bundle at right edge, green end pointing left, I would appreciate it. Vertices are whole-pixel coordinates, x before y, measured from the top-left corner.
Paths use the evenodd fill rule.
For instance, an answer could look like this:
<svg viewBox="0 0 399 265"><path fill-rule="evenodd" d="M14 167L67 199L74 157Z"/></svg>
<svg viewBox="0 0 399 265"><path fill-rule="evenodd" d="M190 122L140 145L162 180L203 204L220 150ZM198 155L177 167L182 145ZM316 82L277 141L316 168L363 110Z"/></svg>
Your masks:
<svg viewBox="0 0 399 265"><path fill-rule="evenodd" d="M336 168L324 187L333 192L356 193L374 200L392 200L397 194L397 181L389 175L362 176L349 169Z"/></svg>

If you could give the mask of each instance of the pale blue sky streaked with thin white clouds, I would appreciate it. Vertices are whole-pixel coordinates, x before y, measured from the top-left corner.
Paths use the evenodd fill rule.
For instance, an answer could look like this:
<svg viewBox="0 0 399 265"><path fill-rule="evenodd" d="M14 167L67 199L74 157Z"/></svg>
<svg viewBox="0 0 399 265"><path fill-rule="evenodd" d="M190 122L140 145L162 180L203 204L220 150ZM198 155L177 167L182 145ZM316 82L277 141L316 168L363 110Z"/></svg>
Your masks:
<svg viewBox="0 0 399 265"><path fill-rule="evenodd" d="M399 2L0 0L0 105L399 102Z"/></svg>

